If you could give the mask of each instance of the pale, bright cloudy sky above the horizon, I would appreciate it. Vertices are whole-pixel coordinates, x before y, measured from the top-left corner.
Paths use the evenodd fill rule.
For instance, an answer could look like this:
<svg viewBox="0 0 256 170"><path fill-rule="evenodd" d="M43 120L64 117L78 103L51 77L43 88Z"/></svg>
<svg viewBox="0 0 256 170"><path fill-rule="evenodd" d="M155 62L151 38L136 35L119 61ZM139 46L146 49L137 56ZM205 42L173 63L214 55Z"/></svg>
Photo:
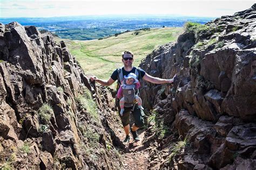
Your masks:
<svg viewBox="0 0 256 170"><path fill-rule="evenodd" d="M0 18L85 15L180 15L220 17L250 8L256 0L0 0Z"/></svg>

